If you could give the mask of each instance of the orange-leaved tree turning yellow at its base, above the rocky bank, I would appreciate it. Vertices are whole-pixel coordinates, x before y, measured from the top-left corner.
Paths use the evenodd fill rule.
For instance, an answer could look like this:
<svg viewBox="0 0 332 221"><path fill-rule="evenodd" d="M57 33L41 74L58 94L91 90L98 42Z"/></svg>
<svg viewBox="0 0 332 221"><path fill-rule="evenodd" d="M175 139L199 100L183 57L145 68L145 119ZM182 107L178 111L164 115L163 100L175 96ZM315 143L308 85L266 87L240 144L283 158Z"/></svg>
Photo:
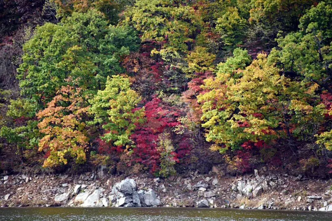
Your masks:
<svg viewBox="0 0 332 221"><path fill-rule="evenodd" d="M82 92L82 88L62 86L47 108L37 114L41 119L38 128L44 134L39 151L46 151L43 167L65 165L71 158L77 164L86 161L89 106Z"/></svg>

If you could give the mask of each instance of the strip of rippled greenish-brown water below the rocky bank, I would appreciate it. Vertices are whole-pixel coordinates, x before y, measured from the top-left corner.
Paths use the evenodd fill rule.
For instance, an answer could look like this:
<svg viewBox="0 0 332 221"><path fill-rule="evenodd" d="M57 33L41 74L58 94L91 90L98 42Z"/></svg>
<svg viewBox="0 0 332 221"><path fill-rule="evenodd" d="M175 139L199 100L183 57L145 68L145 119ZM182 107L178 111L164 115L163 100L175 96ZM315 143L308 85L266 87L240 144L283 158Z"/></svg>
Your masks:
<svg viewBox="0 0 332 221"><path fill-rule="evenodd" d="M197 208L0 208L0 221L332 221L332 212Z"/></svg>

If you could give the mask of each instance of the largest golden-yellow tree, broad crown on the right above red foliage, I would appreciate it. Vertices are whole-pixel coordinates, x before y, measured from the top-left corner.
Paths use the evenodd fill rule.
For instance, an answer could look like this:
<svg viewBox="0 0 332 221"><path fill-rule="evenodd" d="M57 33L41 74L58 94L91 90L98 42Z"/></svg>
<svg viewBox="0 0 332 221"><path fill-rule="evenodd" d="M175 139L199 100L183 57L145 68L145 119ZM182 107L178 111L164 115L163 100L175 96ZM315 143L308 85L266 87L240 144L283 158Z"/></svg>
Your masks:
<svg viewBox="0 0 332 221"><path fill-rule="evenodd" d="M223 65L222 65L223 66ZM229 68L229 67L228 67ZM305 138L323 120L324 105L313 102L315 89L280 76L280 70L260 54L250 66L207 79L202 127L213 150L239 149L246 141Z"/></svg>

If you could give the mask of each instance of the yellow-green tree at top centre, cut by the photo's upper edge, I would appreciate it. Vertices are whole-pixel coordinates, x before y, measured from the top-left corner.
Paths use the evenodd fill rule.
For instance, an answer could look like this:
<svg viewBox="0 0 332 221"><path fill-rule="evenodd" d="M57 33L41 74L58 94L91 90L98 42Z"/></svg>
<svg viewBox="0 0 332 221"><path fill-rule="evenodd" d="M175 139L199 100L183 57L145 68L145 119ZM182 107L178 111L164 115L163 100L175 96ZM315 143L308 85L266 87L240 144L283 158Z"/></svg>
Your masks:
<svg viewBox="0 0 332 221"><path fill-rule="evenodd" d="M138 0L124 16L123 23L139 31L142 41L165 41L163 47L169 51L190 50L204 26L199 12L182 1Z"/></svg>

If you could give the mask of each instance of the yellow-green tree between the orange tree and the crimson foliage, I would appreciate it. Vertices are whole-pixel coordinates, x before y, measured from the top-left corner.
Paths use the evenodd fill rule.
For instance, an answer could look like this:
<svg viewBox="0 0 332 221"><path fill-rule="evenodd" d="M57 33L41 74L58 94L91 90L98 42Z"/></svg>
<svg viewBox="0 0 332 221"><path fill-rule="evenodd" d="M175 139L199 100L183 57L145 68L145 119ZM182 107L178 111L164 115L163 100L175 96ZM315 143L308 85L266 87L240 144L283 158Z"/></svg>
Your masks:
<svg viewBox="0 0 332 221"><path fill-rule="evenodd" d="M107 131L101 137L114 146L131 147L130 135L136 123L142 122L144 108L137 108L139 95L130 89L129 79L120 75L108 77L104 90L99 90L90 100L91 123L100 124Z"/></svg>

